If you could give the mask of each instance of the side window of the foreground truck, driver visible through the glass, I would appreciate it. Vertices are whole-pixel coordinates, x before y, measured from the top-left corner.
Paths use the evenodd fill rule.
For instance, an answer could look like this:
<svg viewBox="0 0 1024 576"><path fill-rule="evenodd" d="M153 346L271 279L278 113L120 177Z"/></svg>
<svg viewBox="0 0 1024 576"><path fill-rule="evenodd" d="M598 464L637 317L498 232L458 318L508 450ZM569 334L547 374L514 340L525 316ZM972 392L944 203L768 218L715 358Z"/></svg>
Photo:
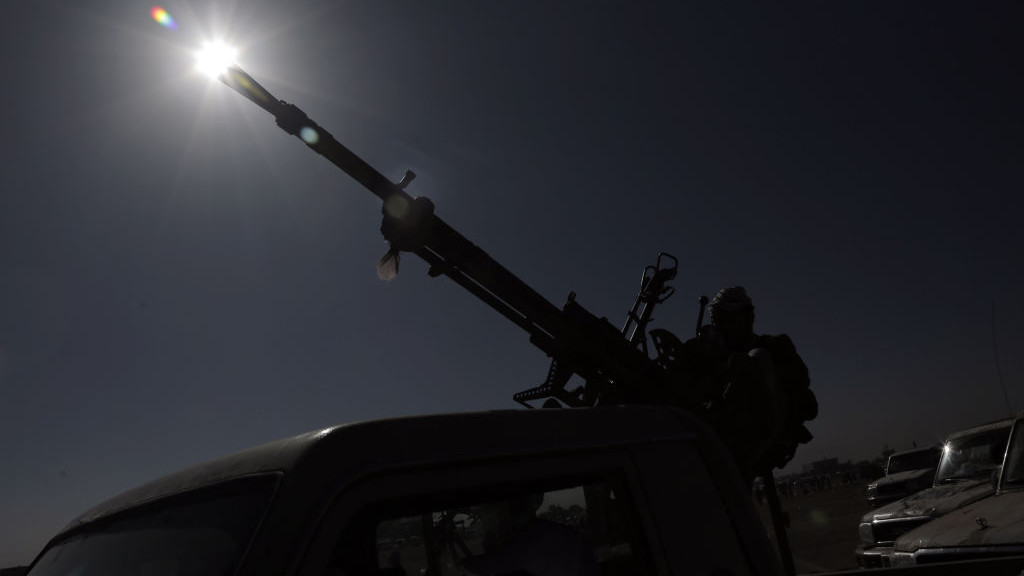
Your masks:
<svg viewBox="0 0 1024 576"><path fill-rule="evenodd" d="M371 553L339 554L338 568L393 576L642 575L649 571L629 501L608 484L588 483L388 506L360 523L372 533L361 539ZM357 556L370 566L345 566Z"/></svg>

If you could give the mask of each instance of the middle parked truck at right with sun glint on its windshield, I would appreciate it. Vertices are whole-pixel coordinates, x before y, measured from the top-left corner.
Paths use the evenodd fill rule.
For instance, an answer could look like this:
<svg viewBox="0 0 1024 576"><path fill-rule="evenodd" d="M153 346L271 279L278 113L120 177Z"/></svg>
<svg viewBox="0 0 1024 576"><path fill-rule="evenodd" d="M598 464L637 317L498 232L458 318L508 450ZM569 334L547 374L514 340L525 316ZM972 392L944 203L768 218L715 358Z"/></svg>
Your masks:
<svg viewBox="0 0 1024 576"><path fill-rule="evenodd" d="M950 435L931 488L871 510L860 520L862 545L854 552L857 564L888 566L896 538L991 494L989 478L1002 461L1012 424L1008 418Z"/></svg>

